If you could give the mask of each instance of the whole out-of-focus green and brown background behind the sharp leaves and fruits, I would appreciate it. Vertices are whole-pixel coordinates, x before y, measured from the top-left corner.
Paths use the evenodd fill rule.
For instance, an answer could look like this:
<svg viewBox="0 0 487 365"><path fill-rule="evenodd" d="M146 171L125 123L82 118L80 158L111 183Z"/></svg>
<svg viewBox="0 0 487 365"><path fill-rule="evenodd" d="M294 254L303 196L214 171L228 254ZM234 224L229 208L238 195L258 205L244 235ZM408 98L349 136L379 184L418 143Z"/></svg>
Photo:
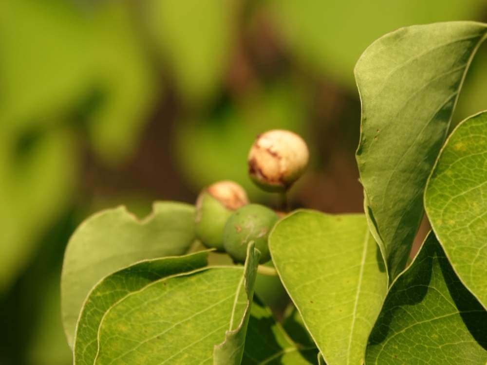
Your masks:
<svg viewBox="0 0 487 365"><path fill-rule="evenodd" d="M287 128L312 161L293 207L359 212L353 68L394 29L487 21L486 0L0 0L1 365L71 363L64 247L96 210L193 202L243 184L256 134ZM454 123L487 108L487 47Z"/></svg>

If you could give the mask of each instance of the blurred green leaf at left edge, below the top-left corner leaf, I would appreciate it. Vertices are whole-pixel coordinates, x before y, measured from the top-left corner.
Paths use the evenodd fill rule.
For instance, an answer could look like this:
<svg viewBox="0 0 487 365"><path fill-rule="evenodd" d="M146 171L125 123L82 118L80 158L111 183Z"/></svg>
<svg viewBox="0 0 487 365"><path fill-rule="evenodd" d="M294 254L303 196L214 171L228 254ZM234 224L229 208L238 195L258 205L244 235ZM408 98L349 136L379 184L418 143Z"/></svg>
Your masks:
<svg viewBox="0 0 487 365"><path fill-rule="evenodd" d="M19 147L0 134L0 292L29 261L73 191L69 135L60 130L31 138Z"/></svg>

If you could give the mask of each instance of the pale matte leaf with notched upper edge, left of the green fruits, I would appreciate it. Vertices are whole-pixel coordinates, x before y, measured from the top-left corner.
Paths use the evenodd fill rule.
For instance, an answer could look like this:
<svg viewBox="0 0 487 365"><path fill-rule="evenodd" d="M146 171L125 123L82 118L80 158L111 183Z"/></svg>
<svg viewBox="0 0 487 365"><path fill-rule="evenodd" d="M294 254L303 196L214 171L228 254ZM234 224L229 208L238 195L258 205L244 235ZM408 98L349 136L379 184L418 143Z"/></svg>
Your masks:
<svg viewBox="0 0 487 365"><path fill-rule="evenodd" d="M63 324L70 346L82 304L103 277L137 261L184 254L194 240L194 208L154 203L137 220L125 207L107 209L82 223L69 240L61 274Z"/></svg>

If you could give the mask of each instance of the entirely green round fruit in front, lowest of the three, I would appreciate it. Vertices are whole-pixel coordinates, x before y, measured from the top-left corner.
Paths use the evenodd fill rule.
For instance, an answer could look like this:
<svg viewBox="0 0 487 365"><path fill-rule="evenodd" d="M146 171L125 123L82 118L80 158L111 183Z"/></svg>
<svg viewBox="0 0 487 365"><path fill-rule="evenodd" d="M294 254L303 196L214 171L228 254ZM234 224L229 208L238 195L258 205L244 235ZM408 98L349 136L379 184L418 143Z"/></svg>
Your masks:
<svg viewBox="0 0 487 365"><path fill-rule="evenodd" d="M261 252L259 262L262 264L271 258L267 237L278 221L277 214L259 204L248 204L237 209L226 221L223 231L225 251L235 261L244 262L247 245L255 242L255 248Z"/></svg>

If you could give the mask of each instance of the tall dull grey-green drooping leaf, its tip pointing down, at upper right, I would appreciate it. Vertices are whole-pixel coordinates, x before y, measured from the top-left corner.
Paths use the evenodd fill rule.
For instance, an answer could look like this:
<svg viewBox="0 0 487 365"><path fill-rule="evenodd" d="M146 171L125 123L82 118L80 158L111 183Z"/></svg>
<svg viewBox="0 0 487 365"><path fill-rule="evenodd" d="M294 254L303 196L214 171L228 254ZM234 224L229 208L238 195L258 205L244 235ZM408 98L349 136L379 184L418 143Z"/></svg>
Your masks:
<svg viewBox="0 0 487 365"><path fill-rule="evenodd" d="M422 194L465 74L487 37L468 21L401 28L356 64L362 102L356 159L365 213L390 282L404 269L423 217Z"/></svg>

